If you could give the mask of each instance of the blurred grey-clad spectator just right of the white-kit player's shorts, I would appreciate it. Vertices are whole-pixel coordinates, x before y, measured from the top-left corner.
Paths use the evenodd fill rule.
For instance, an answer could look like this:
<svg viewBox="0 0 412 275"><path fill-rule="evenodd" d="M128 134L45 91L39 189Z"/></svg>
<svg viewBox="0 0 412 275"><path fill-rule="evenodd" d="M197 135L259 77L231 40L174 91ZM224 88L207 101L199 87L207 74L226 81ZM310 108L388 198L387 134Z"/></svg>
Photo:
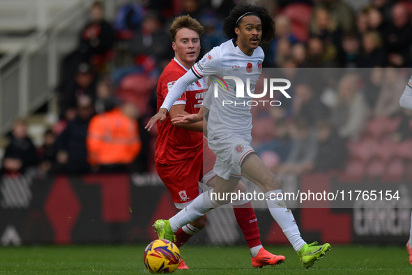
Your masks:
<svg viewBox="0 0 412 275"><path fill-rule="evenodd" d="M291 151L286 162L277 172L280 174L302 174L312 168L316 158L318 141L316 131L310 127L305 119L297 119L291 126L292 140Z"/></svg>

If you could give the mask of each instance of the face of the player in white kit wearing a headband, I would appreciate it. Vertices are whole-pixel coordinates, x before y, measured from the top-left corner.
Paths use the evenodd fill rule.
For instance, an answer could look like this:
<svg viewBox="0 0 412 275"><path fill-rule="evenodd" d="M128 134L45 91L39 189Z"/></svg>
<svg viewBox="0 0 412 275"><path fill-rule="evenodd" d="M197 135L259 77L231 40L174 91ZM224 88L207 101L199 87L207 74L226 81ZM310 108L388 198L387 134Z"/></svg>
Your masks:
<svg viewBox="0 0 412 275"><path fill-rule="evenodd" d="M241 43L247 50L254 50L259 46L262 38L262 25L259 17L255 15L245 16L235 28L238 35L236 43Z"/></svg>

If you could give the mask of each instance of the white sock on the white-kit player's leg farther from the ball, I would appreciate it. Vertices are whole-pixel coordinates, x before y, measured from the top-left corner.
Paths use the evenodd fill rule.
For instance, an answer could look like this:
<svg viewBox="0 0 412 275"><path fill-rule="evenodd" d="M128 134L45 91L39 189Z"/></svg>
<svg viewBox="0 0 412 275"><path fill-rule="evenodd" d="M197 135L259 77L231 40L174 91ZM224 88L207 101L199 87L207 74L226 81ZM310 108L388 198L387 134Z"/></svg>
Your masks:
<svg viewBox="0 0 412 275"><path fill-rule="evenodd" d="M282 190L278 189L265 193L266 203L268 204L270 214L272 214L277 224L282 228L284 235L289 239L293 249L299 251L306 242L300 237L298 225L296 225L292 211L287 209L284 205L283 196L277 196L277 194L282 194ZM282 200L279 200L278 198Z"/></svg>

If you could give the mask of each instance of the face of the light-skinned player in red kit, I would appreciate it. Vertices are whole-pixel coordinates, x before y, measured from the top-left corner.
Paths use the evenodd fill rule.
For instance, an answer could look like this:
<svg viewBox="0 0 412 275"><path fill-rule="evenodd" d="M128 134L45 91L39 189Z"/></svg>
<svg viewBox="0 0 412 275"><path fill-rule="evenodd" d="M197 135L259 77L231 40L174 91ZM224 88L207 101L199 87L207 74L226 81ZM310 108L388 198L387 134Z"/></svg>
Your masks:
<svg viewBox="0 0 412 275"><path fill-rule="evenodd" d="M176 42L171 43L176 58L193 66L200 52L199 34L192 29L179 29L176 33Z"/></svg>

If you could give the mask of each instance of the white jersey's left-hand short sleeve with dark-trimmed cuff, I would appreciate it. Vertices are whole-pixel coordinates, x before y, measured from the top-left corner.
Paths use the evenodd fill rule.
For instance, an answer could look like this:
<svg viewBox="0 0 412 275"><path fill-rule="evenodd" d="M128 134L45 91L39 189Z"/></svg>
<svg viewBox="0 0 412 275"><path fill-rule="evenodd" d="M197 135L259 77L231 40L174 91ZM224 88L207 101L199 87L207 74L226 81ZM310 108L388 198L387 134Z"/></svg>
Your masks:
<svg viewBox="0 0 412 275"><path fill-rule="evenodd" d="M215 75L220 73L222 57L220 57L220 47L214 47L210 52L204 55L191 68L194 75L198 78L207 75Z"/></svg>

